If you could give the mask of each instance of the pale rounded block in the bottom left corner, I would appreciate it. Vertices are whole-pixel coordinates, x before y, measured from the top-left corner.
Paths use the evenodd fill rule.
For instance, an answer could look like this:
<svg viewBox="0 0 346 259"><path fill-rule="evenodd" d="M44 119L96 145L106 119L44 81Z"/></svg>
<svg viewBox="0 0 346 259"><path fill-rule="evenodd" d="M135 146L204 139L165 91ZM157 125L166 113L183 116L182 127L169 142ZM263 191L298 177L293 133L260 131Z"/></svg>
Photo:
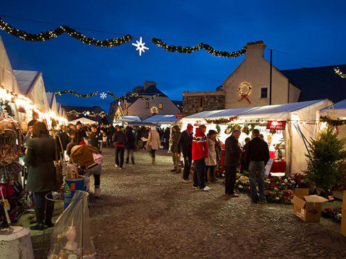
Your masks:
<svg viewBox="0 0 346 259"><path fill-rule="evenodd" d="M24 227L12 227L12 233L0 231L1 259L34 259L30 232Z"/></svg>

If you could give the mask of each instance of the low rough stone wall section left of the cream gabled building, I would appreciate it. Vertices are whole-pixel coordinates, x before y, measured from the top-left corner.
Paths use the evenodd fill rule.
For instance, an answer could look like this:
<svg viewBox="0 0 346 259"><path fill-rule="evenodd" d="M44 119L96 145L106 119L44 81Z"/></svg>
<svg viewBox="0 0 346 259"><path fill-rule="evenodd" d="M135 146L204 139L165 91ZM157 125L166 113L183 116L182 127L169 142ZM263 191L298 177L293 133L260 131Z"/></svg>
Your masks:
<svg viewBox="0 0 346 259"><path fill-rule="evenodd" d="M202 107L200 107L201 98L203 98ZM225 106L226 93L224 91L183 93L183 117L201 111L222 110Z"/></svg>

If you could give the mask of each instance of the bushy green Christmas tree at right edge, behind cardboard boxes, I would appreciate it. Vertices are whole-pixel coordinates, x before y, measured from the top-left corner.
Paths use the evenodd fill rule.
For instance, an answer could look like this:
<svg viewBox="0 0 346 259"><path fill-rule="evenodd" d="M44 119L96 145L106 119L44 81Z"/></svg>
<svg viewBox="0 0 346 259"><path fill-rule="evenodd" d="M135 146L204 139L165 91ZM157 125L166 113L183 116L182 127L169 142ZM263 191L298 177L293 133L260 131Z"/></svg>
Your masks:
<svg viewBox="0 0 346 259"><path fill-rule="evenodd" d="M317 140L311 138L307 157L306 178L326 194L342 186L346 171L346 139L339 139L334 126L327 126L318 134Z"/></svg>

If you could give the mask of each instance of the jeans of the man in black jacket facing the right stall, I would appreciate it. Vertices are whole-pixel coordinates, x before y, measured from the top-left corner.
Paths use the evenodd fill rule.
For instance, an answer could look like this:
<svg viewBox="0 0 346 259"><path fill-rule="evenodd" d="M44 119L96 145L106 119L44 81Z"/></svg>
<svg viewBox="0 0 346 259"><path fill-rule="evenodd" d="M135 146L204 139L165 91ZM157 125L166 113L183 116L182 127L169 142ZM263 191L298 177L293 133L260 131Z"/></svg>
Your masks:
<svg viewBox="0 0 346 259"><path fill-rule="evenodd" d="M266 171L264 162L250 161L250 164L248 164L248 173L250 175L251 199L253 200L253 202L257 202L257 176L258 189L260 190L260 200L266 200L266 196L264 195L264 171Z"/></svg>

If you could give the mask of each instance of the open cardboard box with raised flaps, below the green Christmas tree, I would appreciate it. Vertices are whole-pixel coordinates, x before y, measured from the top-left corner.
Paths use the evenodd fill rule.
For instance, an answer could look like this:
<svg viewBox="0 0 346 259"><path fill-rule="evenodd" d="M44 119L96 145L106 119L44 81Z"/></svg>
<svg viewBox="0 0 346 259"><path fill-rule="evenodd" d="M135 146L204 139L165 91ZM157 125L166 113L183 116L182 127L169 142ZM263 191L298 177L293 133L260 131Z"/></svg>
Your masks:
<svg viewBox="0 0 346 259"><path fill-rule="evenodd" d="M321 204L328 200L318 196L309 195L309 189L295 189L292 203L293 214L305 222L320 222Z"/></svg>

